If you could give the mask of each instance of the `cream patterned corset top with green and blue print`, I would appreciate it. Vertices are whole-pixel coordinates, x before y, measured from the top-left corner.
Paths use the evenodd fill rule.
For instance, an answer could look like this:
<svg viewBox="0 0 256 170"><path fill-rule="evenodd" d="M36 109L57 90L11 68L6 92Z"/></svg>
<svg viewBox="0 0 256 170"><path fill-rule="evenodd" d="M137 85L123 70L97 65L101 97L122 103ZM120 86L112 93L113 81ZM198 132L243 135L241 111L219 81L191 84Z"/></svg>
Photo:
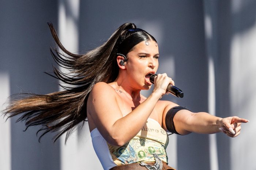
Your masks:
<svg viewBox="0 0 256 170"><path fill-rule="evenodd" d="M131 141L121 147L112 146L108 143L108 147L116 165L140 161L155 162L154 153L167 163L166 147L168 142L169 138L166 131L156 120L148 118L146 124Z"/></svg>

